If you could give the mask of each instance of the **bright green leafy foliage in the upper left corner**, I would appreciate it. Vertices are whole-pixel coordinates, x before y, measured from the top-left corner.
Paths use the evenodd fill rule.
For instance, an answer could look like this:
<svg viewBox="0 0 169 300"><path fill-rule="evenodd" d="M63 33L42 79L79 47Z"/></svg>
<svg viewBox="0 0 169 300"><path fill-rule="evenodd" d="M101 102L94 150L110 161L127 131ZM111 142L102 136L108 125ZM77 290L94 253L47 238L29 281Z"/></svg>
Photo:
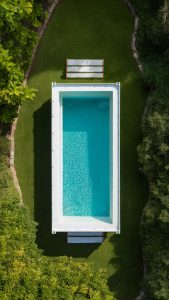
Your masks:
<svg viewBox="0 0 169 300"><path fill-rule="evenodd" d="M0 1L0 123L11 122L18 106L34 98L22 82L45 15L40 1Z"/></svg>

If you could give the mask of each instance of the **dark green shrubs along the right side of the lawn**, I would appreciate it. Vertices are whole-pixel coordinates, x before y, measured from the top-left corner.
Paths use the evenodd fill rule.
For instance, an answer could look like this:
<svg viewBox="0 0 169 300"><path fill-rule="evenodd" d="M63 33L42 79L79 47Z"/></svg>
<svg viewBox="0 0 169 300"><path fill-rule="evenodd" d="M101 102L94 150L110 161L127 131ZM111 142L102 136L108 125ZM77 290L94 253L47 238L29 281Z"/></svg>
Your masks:
<svg viewBox="0 0 169 300"><path fill-rule="evenodd" d="M138 147L142 171L149 182L149 201L142 218L148 300L169 299L169 30L163 16L166 1L132 0L140 17L137 47L151 87L144 138ZM165 6L165 7L164 7ZM165 8L165 9L164 9ZM169 29L169 28L168 28Z"/></svg>

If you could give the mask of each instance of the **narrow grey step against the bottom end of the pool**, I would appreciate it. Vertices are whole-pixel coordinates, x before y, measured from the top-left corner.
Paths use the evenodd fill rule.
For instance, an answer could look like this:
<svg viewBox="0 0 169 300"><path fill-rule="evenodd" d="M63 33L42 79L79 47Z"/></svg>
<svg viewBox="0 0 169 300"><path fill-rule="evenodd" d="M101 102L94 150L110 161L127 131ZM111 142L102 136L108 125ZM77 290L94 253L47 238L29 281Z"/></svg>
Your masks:
<svg viewBox="0 0 169 300"><path fill-rule="evenodd" d="M68 232L69 244L100 244L104 241L103 232Z"/></svg>

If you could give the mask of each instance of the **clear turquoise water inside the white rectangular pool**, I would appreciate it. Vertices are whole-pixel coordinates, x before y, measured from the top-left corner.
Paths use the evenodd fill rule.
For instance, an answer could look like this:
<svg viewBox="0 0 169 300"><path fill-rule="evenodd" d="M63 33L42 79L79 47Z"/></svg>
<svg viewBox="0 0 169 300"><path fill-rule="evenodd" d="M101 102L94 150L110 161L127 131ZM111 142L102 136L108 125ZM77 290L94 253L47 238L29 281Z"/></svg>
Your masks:
<svg viewBox="0 0 169 300"><path fill-rule="evenodd" d="M109 97L62 103L63 215L109 216Z"/></svg>

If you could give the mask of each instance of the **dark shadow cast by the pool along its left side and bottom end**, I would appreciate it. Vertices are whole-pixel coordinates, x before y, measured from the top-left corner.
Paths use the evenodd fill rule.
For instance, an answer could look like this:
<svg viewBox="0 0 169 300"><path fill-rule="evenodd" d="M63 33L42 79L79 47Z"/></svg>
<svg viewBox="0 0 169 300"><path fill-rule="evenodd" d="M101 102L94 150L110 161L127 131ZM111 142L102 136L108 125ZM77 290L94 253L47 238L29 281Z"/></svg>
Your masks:
<svg viewBox="0 0 169 300"><path fill-rule="evenodd" d="M97 244L68 244L66 233L51 233L51 100L34 113L34 217L37 244L48 256L88 257Z"/></svg>

